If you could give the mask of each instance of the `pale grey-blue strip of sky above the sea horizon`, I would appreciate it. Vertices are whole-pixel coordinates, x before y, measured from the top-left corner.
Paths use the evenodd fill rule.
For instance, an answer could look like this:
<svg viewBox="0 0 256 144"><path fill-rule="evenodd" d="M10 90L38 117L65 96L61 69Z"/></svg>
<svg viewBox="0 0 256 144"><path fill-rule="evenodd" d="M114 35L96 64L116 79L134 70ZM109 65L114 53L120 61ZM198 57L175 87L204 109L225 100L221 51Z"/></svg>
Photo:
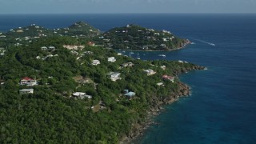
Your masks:
<svg viewBox="0 0 256 144"><path fill-rule="evenodd" d="M256 13L256 0L0 0L0 14Z"/></svg>

